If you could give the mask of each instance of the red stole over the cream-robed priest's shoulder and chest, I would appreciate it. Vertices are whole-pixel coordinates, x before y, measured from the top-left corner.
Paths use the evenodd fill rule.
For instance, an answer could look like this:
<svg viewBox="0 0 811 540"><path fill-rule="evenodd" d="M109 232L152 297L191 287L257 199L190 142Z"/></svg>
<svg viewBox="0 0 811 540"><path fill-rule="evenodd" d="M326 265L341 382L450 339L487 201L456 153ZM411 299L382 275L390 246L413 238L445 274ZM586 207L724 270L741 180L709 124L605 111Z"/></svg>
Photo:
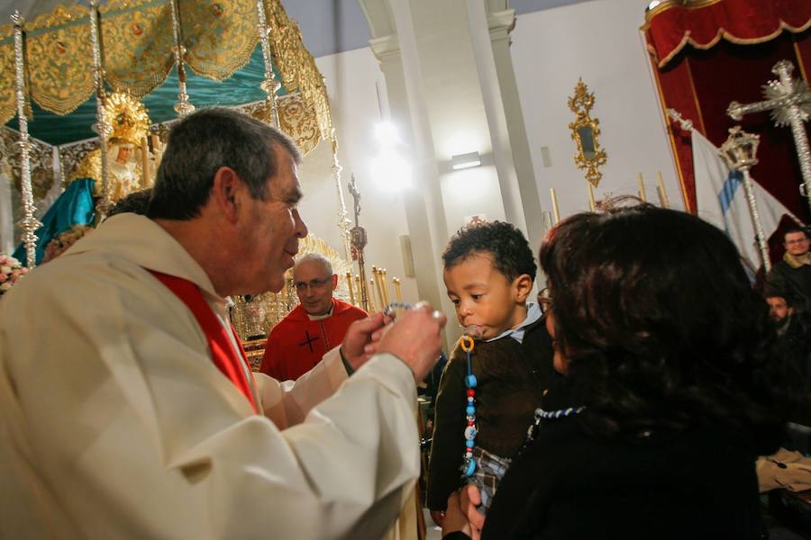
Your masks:
<svg viewBox="0 0 811 540"><path fill-rule="evenodd" d="M259 412L256 401L253 399L251 385L245 377L245 370L242 369L242 366L245 366L248 368L248 373L251 373L248 359L245 356L245 351L242 350L240 338L233 333L233 327L231 331L237 345L240 347L241 356L238 356L233 350L231 339L223 328L223 324L217 319L216 314L214 314L208 302L205 302L203 293L200 292L196 284L175 275L161 274L152 270L149 272L186 304L186 307L192 312L192 315L195 316L197 324L203 329L214 365L216 365L223 375L228 377L233 385L251 402L251 407L253 407L254 412Z"/></svg>

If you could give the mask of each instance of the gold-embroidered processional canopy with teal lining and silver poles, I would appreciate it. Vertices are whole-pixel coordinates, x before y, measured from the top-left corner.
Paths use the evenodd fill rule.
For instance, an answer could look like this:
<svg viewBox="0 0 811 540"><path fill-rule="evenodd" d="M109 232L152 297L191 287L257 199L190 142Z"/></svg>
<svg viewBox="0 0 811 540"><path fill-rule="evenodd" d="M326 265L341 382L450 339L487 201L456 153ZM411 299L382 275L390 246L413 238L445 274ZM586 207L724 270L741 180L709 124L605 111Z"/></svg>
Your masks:
<svg viewBox="0 0 811 540"><path fill-rule="evenodd" d="M192 80L195 85L187 86ZM205 103L198 91L210 101ZM277 93L286 97L277 101ZM249 99L228 102L246 95ZM303 154L320 140L330 141L338 226L344 260L349 260L342 167L326 86L280 0L113 0L100 5L92 0L89 6L59 6L31 21L16 14L14 24L0 25L0 120L5 124L16 115L12 127L20 131L10 137L12 132L3 130L0 141L6 148L4 169L11 169L23 192L29 193L23 196L26 218L21 221L28 253L35 247L33 233L39 226L33 217L35 204L47 203L46 193L54 192L50 186L63 188L71 172L99 177L93 173L99 165L94 155L98 144L90 139L90 124L95 121L96 133L109 136L110 143L140 147L146 164L147 148L154 150L167 130L150 126L141 102L148 103L152 121L170 121L177 118L173 110L181 115L190 110L171 103L178 99L196 106L238 105L287 132ZM70 118L78 112L85 114L84 137L64 139L62 130L52 133L58 140L50 144L59 145L63 165L70 166L67 172L62 168L61 178L54 178L48 161L53 147L47 140L33 139L29 127L36 132L48 123L45 119ZM10 148L18 144L13 140L17 136L26 148L24 158ZM116 157L105 156L106 146L100 147L102 168L107 164L103 181ZM32 190L32 166L38 175L50 174L49 185ZM107 202L109 194L105 189ZM105 213L106 206L101 211Z"/></svg>

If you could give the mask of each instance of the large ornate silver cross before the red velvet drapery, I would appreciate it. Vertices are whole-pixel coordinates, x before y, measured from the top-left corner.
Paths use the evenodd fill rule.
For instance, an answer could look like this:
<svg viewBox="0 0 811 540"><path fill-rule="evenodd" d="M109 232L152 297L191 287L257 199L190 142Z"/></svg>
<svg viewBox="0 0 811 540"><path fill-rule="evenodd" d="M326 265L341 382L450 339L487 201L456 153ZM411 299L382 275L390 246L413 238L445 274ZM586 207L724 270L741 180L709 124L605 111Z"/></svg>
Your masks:
<svg viewBox="0 0 811 540"><path fill-rule="evenodd" d="M794 65L791 62L780 60L771 68L771 72L779 76L779 80L769 81L763 86L765 101L745 105L733 102L729 104L726 113L734 121L741 121L744 114L769 111L776 126L791 126L803 173L803 185L799 191L811 207L811 149L808 148L806 127L803 124L811 116L811 94L808 93L805 81L796 81L791 77L793 70Z"/></svg>

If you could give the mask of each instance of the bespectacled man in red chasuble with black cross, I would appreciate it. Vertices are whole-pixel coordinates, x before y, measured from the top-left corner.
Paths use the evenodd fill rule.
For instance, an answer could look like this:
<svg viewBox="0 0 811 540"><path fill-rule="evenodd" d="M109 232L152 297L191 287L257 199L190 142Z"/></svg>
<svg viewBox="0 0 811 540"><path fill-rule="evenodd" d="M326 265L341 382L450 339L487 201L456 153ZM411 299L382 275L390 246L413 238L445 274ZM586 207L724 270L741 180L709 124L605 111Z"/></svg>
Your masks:
<svg viewBox="0 0 811 540"><path fill-rule="evenodd" d="M341 344L355 320L366 311L333 298L338 275L330 260L317 253L300 257L293 267L296 294L301 302L280 320L268 336L261 371L279 381L295 381L328 350Z"/></svg>

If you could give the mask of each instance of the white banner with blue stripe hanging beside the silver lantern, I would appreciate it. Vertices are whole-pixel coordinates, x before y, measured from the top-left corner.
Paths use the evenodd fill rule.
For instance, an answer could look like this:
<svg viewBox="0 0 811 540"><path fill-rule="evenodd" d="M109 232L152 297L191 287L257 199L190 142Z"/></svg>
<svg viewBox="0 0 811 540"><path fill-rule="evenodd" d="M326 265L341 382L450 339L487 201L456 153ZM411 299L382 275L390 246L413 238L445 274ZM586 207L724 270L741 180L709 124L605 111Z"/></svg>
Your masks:
<svg viewBox="0 0 811 540"><path fill-rule="evenodd" d="M693 130L693 169L696 178L698 217L726 231L752 271L761 266L749 202L743 190L743 175L730 171L713 143ZM763 233L768 241L777 230L780 218L794 216L781 202L752 178L752 190L758 203Z"/></svg>

